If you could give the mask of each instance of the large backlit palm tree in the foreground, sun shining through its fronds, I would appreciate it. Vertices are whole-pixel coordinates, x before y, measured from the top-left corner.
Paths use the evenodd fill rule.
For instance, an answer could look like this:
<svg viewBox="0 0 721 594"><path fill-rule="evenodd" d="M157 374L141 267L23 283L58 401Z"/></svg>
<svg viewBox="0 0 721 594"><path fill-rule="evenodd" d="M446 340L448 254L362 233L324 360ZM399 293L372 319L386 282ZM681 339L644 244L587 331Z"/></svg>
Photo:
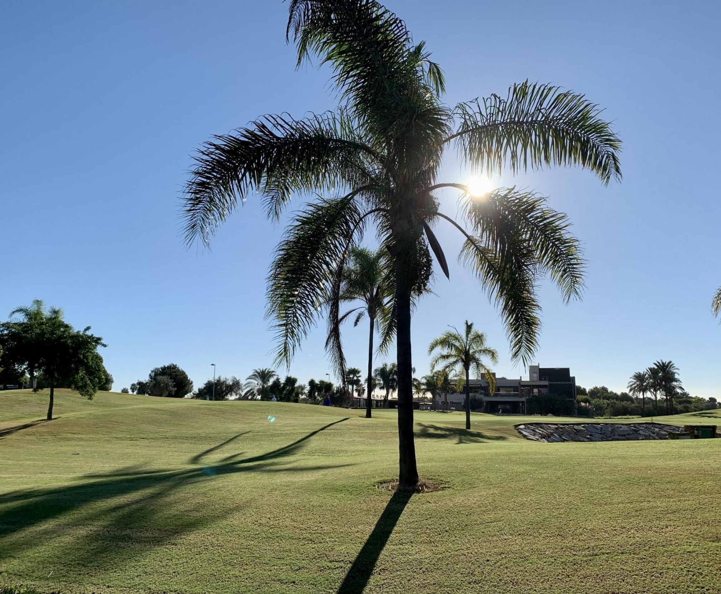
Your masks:
<svg viewBox="0 0 721 594"><path fill-rule="evenodd" d="M340 298L350 248L371 228L392 262L398 366L399 481L417 483L413 440L411 306L428 282L430 251L448 276L431 229L445 220L464 236L461 258L500 308L513 359L527 363L539 338L539 277L564 300L580 296L583 259L562 213L516 187L473 196L464 183L439 183L443 153L457 150L474 174L581 166L604 184L620 179L621 141L601 109L581 94L528 81L506 96L444 104L443 73L425 43L376 0L292 0L286 37L298 66L314 55L333 69L334 112L303 119L266 115L205 143L185 186L185 240L208 244L249 194L278 220L293 196L319 195L298 212L268 276L268 308L288 364ZM436 193L459 191L461 222ZM461 223L465 223L464 225ZM467 230L466 230L467 229ZM335 307L335 305L331 305ZM334 357L343 373L342 356Z"/></svg>

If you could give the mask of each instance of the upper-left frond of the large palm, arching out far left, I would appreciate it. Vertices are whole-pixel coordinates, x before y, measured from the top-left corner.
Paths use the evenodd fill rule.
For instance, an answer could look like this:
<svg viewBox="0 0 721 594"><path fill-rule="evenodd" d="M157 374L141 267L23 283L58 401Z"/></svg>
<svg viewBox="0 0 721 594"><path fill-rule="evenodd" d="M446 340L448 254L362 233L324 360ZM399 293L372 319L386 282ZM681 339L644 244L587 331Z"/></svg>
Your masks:
<svg viewBox="0 0 721 594"><path fill-rule="evenodd" d="M267 115L235 134L214 137L195 156L185 186L185 241L208 245L217 226L247 195L260 192L270 217L278 217L293 193L332 192L368 182L373 150L339 112L304 120Z"/></svg>

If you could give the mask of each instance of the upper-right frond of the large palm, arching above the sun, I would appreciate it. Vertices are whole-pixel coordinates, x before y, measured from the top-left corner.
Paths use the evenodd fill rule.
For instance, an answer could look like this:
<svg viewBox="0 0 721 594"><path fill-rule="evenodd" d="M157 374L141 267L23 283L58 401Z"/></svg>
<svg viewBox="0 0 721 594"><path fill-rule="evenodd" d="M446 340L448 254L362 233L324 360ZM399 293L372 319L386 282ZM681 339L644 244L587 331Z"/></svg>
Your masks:
<svg viewBox="0 0 721 594"><path fill-rule="evenodd" d="M621 140L601 111L582 94L525 81L505 99L493 94L459 104L459 127L447 140L456 140L474 171L579 165L608 184L621 179Z"/></svg>

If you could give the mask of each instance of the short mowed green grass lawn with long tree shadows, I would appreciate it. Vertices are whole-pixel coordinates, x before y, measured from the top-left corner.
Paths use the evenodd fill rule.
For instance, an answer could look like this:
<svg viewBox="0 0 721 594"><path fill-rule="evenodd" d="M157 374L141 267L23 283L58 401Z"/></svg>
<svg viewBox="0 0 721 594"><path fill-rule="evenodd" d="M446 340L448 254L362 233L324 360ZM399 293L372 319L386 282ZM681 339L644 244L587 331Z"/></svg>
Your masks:
<svg viewBox="0 0 721 594"><path fill-rule="evenodd" d="M416 413L0 392L0 584L62 593L721 592L721 439L539 444ZM721 411L666 422L717 423ZM271 422L268 416L275 417ZM663 420L663 419L660 419Z"/></svg>

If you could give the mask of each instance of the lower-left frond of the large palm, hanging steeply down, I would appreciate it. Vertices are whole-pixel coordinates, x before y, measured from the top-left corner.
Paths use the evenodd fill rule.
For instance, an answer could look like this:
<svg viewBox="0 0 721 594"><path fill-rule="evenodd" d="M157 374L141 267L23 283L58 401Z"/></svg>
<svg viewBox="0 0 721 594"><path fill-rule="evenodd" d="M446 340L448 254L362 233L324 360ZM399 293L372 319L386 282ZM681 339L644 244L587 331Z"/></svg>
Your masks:
<svg viewBox="0 0 721 594"><path fill-rule="evenodd" d="M267 286L267 318L278 341L277 363L290 364L329 301L335 271L363 233L355 194L321 199L293 217L275 251Z"/></svg>

